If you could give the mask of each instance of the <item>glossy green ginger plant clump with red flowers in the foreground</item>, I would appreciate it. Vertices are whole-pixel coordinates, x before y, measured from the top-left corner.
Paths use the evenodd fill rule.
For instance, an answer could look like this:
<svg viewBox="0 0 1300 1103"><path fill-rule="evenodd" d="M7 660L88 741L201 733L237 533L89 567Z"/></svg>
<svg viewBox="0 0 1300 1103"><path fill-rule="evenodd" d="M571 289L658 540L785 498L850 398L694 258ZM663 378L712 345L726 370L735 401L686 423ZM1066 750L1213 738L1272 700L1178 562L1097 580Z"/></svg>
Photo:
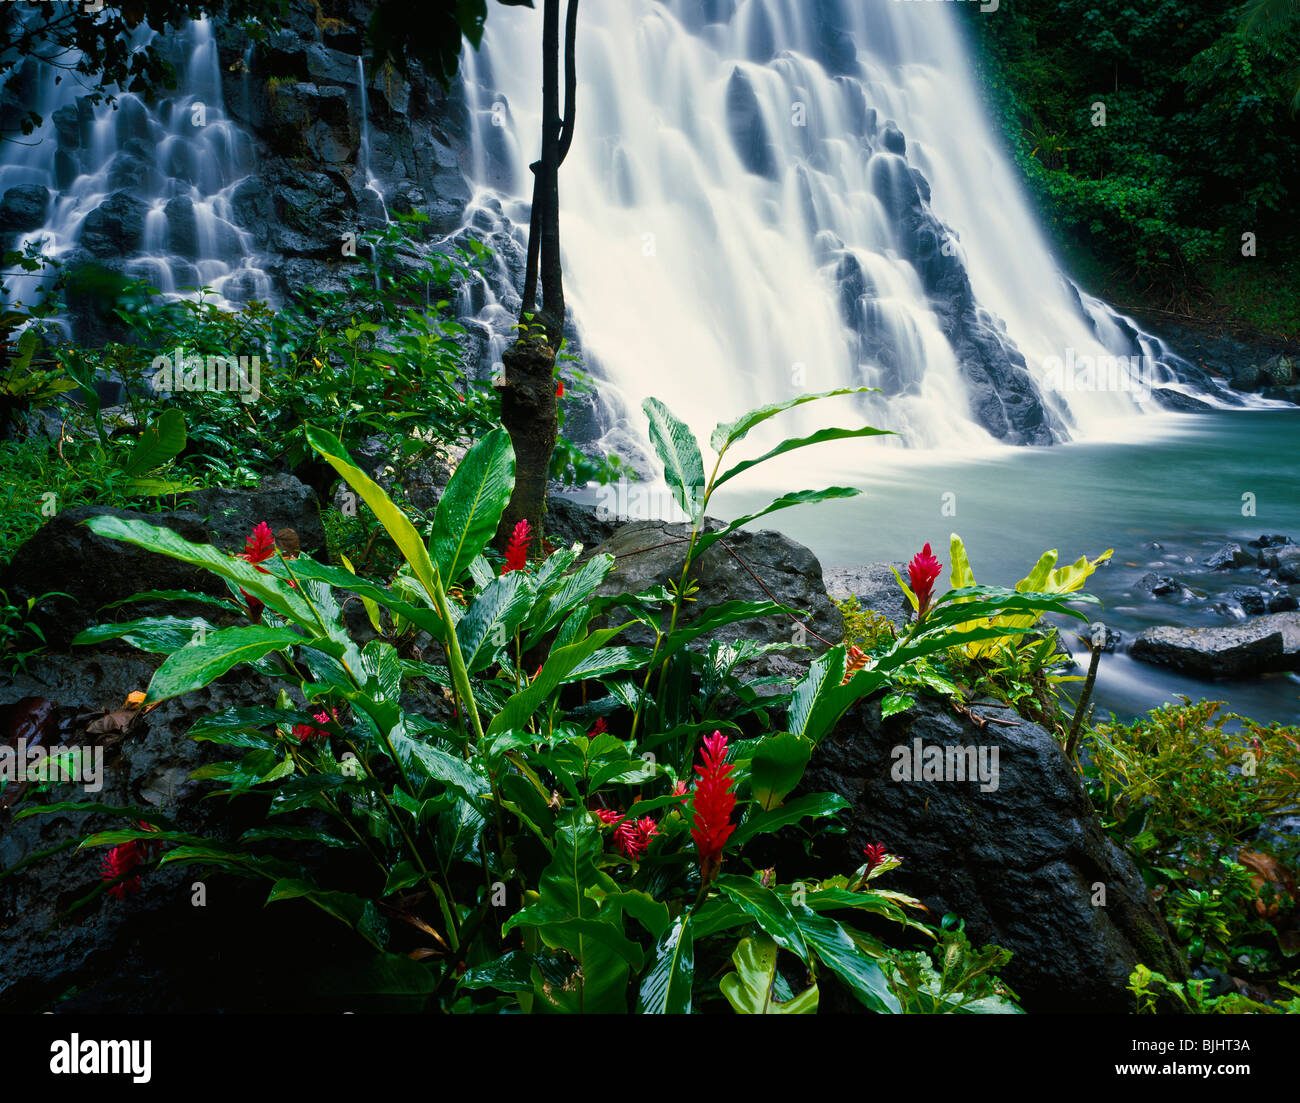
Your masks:
<svg viewBox="0 0 1300 1103"><path fill-rule="evenodd" d="M670 419L664 411L663 424ZM974 1008L985 998L975 978L1005 957L971 959L959 983L935 989L919 966L855 922L864 916L933 937L909 916L916 901L872 883L897 862L781 883L751 857L760 836L827 830L846 806L831 793L786 803L815 741L853 700L878 688L870 676L841 685L842 648L794 687L779 727L772 714L785 698L759 698L740 674L771 648L720 636L779 606L731 602L679 627L685 578L675 589L597 597L612 559L576 566L576 548L526 571L494 572L482 550L514 472L499 431L458 467L428 542L335 436L309 428L306 438L400 553L403 566L389 583L306 555L277 553L251 565L139 520L88 523L100 536L224 578L230 597L207 601L252 623L194 628L195 622L155 618L90 630L78 644L112 635L166 653L148 700L190 692L240 663L282 685L277 708L230 709L191 731L235 756L195 777L228 796L259 795L268 826L234 844L150 831L148 840L164 848L161 864L260 878L268 903L313 904L373 953L369 968L335 978L338 990L386 994L413 1007L798 1011L811 1009L827 985L885 1013L922 1009L926 999ZM684 454L692 444L680 431L660 436L662 447ZM689 460L679 467L696 470ZM697 536L710 484L703 489ZM339 589L367 604L380 639L364 648L351 639ZM884 666L902 669L933 653L958 619L1045 600L979 587L954 593L971 604L941 598L933 623L896 641ZM654 648L619 644L627 617L654 627ZM594 627L598 618L611 627ZM402 626L428 632L433 645L416 649ZM970 635L957 633L957 643ZM701 637L710 639L702 650L686 648ZM651 695L656 671L662 678ZM411 711L412 693L447 700L448 709ZM723 701L727 711L719 713ZM604 723L590 726L597 717ZM690 834L692 796L675 790L693 777L698 735L720 727L732 734L737 826L725 871L703 882ZM44 810L52 809L20 814ZM620 812L654 825L644 848L618 842L610 821ZM129 826L83 845L144 835ZM295 842L354 851L373 874L291 864L282 855ZM394 916L407 922L395 924ZM777 955L790 956L789 969L807 977L798 992Z"/></svg>

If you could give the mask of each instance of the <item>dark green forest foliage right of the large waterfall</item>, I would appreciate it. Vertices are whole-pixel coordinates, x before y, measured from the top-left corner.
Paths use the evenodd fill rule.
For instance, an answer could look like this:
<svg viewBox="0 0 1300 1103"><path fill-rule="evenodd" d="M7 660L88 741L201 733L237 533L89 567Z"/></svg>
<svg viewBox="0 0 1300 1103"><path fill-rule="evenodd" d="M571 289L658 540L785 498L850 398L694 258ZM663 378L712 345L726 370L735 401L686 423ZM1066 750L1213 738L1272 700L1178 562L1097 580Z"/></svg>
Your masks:
<svg viewBox="0 0 1300 1103"><path fill-rule="evenodd" d="M1071 259L1101 259L1098 291L1213 308L1208 282L1264 287L1290 269L1254 317L1294 304L1300 18L1288 1L1269 0L1271 21L1191 0L1005 4L970 20L1011 153ZM1247 232L1254 259L1242 256Z"/></svg>

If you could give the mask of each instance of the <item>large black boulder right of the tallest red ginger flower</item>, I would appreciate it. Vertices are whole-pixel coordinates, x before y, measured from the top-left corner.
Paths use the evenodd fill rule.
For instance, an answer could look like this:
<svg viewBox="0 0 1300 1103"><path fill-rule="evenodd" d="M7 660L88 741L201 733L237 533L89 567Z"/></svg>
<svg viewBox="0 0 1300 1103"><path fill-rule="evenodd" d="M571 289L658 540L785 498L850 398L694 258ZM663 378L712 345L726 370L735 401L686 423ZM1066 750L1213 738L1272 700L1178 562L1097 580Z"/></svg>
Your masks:
<svg viewBox="0 0 1300 1103"><path fill-rule="evenodd" d="M991 722L926 697L883 721L870 700L823 740L800 792L833 791L853 805L845 834L816 838L826 873L855 869L866 845L884 843L904 858L890 888L920 899L931 921L956 913L974 943L1015 955L1001 976L1031 1012L1131 1011L1126 985L1139 963L1186 977L1141 875L1101 829L1060 744L1002 706L971 711ZM902 751L918 740L975 749L994 767L989 780L906 779Z"/></svg>

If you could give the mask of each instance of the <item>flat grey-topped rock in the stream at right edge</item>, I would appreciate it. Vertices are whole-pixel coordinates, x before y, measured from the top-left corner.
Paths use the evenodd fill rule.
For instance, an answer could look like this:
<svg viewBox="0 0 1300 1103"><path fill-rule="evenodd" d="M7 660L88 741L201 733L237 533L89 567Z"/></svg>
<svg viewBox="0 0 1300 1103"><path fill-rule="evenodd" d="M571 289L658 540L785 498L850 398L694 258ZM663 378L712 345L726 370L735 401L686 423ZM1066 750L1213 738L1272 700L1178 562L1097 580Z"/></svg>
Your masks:
<svg viewBox="0 0 1300 1103"><path fill-rule="evenodd" d="M1128 654L1193 678L1300 670L1300 613L1274 613L1222 628L1148 628Z"/></svg>

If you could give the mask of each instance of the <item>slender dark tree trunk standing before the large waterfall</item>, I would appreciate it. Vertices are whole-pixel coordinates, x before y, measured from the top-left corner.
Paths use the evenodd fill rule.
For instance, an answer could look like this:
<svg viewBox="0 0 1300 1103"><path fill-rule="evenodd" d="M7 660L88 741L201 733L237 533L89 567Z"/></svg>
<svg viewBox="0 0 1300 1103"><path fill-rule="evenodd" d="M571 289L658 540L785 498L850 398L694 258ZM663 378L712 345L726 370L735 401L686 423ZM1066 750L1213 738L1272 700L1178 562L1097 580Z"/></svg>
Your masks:
<svg viewBox="0 0 1300 1103"><path fill-rule="evenodd" d="M555 352L564 338L564 282L560 267L559 166L573 140L577 0L568 0L564 35L564 116L560 117L560 0L542 9L542 157L533 169L533 211L528 234L520 336L502 356L500 423L515 446L515 490L497 531L502 549L520 520L542 550L546 484L558 436ZM542 303L537 310L537 282ZM536 323L536 324L534 324ZM540 326L540 329L538 329Z"/></svg>

